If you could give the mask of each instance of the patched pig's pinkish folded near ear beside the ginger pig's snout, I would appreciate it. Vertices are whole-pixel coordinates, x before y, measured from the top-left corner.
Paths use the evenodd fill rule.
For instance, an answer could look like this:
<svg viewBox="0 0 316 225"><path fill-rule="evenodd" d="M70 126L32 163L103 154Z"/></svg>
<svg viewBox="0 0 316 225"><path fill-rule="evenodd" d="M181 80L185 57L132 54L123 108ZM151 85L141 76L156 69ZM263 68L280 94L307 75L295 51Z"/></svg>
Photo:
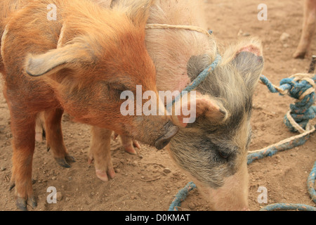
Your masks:
<svg viewBox="0 0 316 225"><path fill-rule="evenodd" d="M228 118L228 112L223 105L209 96L198 95L193 98L190 96L183 96L181 104L176 104L175 115L177 124L180 127L187 127L187 124L195 122L197 117L207 117L214 123L224 122ZM183 108L184 105L184 108ZM186 106L187 105L187 106ZM189 111L185 112L185 111Z"/></svg>

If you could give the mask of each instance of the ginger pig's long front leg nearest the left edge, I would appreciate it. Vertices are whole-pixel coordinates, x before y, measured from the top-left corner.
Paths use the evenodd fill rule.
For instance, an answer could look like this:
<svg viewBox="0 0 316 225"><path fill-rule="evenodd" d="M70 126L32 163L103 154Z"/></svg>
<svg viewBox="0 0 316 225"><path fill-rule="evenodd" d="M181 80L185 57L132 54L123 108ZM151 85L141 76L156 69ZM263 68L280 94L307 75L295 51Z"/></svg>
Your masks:
<svg viewBox="0 0 316 225"><path fill-rule="evenodd" d="M27 210L27 204L37 207L32 189L32 160L35 148L36 115L25 115L22 110L11 110L11 131L13 134L13 169L10 190L15 187L16 205Z"/></svg>

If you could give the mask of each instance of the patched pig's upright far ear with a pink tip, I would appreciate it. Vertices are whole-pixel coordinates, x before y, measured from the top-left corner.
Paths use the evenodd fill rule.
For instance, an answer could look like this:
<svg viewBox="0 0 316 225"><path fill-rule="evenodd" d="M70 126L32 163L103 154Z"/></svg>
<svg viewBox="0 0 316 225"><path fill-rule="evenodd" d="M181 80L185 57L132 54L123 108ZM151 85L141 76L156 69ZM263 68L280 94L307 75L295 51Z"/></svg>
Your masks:
<svg viewBox="0 0 316 225"><path fill-rule="evenodd" d="M242 75L249 91L253 92L263 70L263 57L261 49L252 44L242 47L237 51L232 60L237 71Z"/></svg>

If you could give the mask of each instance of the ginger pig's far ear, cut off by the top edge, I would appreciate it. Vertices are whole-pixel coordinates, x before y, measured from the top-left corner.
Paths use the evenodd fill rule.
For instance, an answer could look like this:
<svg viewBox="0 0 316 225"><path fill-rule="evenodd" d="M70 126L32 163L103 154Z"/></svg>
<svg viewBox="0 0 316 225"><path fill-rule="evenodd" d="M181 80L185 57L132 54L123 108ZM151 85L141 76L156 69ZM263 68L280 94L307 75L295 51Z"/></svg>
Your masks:
<svg viewBox="0 0 316 225"><path fill-rule="evenodd" d="M136 26L145 26L149 16L150 6L154 4L154 0L114 0L112 8L124 11Z"/></svg>

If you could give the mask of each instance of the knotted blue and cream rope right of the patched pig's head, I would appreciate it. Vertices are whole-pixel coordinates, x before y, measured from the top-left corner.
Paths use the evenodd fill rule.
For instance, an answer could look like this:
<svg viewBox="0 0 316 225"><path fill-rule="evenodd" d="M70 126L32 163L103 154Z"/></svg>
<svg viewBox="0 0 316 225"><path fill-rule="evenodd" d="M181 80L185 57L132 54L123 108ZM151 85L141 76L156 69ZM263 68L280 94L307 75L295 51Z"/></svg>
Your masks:
<svg viewBox="0 0 316 225"><path fill-rule="evenodd" d="M290 105L290 111L284 117L284 123L290 131L301 134L289 139L275 143L261 150L249 151L248 165L254 160L265 158L266 156L275 155L275 153L302 146L309 138L310 134L315 131L315 127L310 124L310 120L316 116L315 103L315 81L316 75L297 74L286 79L282 79L281 86L273 85L267 77L261 76L261 82L268 86L272 93L281 95L289 94L296 99L295 104Z"/></svg>

